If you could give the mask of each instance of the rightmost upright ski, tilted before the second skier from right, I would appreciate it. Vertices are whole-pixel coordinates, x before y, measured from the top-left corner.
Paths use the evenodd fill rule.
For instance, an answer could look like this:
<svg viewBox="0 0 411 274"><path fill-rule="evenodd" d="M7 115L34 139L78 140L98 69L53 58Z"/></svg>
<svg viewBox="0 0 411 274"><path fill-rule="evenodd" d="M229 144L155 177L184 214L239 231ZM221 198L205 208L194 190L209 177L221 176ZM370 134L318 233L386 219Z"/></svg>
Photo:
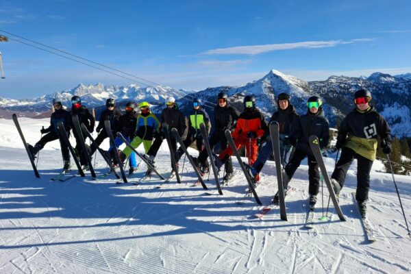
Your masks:
<svg viewBox="0 0 411 274"><path fill-rule="evenodd" d="M338 205L336 194L334 193L334 189L332 188L332 184L329 179L327 169L325 168L323 155L321 154L319 138L317 138L317 136L312 135L310 136L309 140L310 140L310 147L311 147L312 153L314 153L314 158L320 166L320 170L321 170L321 173L323 174L325 184L327 184L329 197L331 197L332 199L332 203L334 204L334 208L336 209L338 217L340 218L340 221L346 221L345 216L343 212L341 211L340 205Z"/></svg>

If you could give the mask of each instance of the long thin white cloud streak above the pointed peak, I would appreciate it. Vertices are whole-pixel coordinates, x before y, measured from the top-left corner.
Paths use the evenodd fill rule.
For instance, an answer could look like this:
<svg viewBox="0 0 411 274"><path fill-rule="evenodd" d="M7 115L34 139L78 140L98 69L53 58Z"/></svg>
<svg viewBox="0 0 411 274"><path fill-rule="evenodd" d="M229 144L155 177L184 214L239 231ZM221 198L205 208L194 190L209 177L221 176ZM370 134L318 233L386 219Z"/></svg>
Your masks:
<svg viewBox="0 0 411 274"><path fill-rule="evenodd" d="M247 54L256 55L269 51L284 51L288 49L318 49L322 47L336 47L337 45L347 45L356 42L370 42L375 38L362 38L352 40L329 40L329 41L306 41L283 44L255 45L255 46L240 46L227 47L225 49L210 49L200 54L202 55L222 55L222 54Z"/></svg>

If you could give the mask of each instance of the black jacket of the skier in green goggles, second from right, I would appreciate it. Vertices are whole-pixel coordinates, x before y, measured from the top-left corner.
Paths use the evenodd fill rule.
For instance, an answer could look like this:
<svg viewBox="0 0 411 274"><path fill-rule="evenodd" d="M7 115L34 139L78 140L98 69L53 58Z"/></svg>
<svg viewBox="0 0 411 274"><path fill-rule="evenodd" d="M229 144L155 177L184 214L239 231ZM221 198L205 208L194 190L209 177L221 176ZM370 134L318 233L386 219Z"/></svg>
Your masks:
<svg viewBox="0 0 411 274"><path fill-rule="evenodd" d="M323 108L319 108L316 114L310 110L299 117L299 121L293 129L292 138L297 138L297 149L306 151L312 155L309 138L315 135L319 138L320 148L327 147L329 140L329 124L323 113Z"/></svg>

